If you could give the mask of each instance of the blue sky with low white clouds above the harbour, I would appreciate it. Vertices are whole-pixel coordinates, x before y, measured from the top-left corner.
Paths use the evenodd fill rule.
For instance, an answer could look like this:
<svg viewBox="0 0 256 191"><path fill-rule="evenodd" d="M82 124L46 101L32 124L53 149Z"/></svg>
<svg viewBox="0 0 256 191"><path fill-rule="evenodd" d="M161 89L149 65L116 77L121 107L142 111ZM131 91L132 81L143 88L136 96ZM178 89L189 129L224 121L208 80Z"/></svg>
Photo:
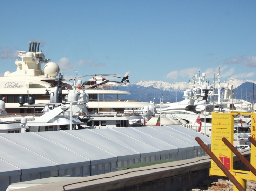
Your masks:
<svg viewBox="0 0 256 191"><path fill-rule="evenodd" d="M0 1L1 73L40 42L66 79L130 71L130 82L256 77L256 1ZM86 79L89 79L88 77ZM84 80L86 80L84 79Z"/></svg>

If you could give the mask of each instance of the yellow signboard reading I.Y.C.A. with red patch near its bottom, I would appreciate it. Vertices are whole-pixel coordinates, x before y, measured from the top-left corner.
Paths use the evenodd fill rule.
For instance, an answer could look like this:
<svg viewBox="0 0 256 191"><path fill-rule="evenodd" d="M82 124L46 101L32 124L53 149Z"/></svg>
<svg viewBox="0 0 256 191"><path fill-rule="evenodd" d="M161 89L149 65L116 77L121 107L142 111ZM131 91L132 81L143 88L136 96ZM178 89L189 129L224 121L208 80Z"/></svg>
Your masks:
<svg viewBox="0 0 256 191"><path fill-rule="evenodd" d="M232 171L233 152L224 144L222 138L225 137L233 143L234 116L231 113L212 112L211 124L211 151L229 171ZM211 160L210 175L225 176L213 160Z"/></svg>

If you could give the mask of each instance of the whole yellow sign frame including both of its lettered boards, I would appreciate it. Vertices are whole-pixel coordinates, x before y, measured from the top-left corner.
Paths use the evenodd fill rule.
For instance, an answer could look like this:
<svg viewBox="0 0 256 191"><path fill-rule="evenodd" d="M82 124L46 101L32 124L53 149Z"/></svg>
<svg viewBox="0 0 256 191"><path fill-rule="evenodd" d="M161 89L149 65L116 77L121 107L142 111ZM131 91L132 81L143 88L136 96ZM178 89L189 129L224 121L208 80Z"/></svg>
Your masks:
<svg viewBox="0 0 256 191"><path fill-rule="evenodd" d="M233 152L224 144L222 138L225 137L231 144L234 142L234 115L251 116L251 137L256 138L256 114L250 112L212 112L211 128L211 151L222 162L236 180L245 188L246 180L256 181L255 175L251 171L241 171L233 169ZM251 144L251 165L256 167L256 147ZM211 159L210 176L225 176L224 172ZM234 186L234 191L237 188Z"/></svg>

